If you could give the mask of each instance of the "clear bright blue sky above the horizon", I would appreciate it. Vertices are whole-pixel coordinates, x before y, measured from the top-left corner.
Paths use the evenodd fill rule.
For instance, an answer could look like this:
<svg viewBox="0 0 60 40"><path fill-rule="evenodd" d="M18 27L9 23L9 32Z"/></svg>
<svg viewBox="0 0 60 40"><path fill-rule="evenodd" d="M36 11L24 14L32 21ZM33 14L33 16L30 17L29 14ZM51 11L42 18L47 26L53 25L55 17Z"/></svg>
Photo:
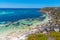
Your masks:
<svg viewBox="0 0 60 40"><path fill-rule="evenodd" d="M60 0L0 0L0 8L60 7Z"/></svg>

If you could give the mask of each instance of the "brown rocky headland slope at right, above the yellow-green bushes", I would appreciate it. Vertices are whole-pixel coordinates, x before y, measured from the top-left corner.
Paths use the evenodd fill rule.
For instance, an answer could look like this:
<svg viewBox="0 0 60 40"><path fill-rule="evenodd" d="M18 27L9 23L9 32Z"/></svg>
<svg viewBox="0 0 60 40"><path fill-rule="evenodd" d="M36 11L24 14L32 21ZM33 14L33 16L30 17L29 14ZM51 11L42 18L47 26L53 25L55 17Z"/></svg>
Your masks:
<svg viewBox="0 0 60 40"><path fill-rule="evenodd" d="M60 10L56 7L50 7L50 8L43 8L41 9L41 12L47 13L51 20L49 20L48 28L52 31L60 31Z"/></svg>

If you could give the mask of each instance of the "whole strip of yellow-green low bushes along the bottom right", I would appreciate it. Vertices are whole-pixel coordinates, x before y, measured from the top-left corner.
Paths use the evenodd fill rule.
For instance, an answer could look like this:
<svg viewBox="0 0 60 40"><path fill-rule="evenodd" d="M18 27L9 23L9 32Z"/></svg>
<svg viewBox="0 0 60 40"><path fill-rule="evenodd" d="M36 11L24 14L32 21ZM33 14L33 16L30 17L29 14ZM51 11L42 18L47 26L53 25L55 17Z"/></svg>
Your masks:
<svg viewBox="0 0 60 40"><path fill-rule="evenodd" d="M27 40L60 40L60 32L50 31L48 34L32 34Z"/></svg>

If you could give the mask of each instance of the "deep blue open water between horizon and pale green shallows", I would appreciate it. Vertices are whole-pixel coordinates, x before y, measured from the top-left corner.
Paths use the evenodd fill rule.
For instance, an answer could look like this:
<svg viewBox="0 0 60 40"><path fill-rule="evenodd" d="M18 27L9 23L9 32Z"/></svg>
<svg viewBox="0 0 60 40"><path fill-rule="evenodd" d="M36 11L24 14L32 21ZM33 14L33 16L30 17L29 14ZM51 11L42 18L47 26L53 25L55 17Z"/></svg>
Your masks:
<svg viewBox="0 0 60 40"><path fill-rule="evenodd" d="M20 19L27 18L38 18L42 16L43 13L40 12L40 9L37 8L0 8L0 22L3 21L17 21Z"/></svg>

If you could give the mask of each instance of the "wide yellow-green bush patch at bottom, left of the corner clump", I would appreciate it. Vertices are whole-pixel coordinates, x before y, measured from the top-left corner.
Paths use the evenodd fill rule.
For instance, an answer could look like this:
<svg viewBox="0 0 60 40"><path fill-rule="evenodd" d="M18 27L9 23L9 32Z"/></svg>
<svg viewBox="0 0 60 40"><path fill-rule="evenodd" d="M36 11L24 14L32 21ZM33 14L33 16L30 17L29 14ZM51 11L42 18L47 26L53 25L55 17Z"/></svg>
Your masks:
<svg viewBox="0 0 60 40"><path fill-rule="evenodd" d="M48 36L45 34L32 34L29 35L27 40L48 40Z"/></svg>

